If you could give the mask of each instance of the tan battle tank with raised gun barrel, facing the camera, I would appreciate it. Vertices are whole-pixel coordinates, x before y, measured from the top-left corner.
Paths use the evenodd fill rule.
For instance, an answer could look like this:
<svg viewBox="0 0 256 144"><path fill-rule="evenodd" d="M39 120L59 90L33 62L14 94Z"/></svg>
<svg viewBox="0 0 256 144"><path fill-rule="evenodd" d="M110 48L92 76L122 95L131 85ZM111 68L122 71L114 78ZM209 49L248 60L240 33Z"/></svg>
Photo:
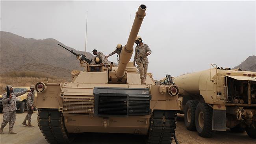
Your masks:
<svg viewBox="0 0 256 144"><path fill-rule="evenodd" d="M35 85L38 126L50 143L69 143L76 133L130 133L147 136L150 144L170 144L176 129L178 87L155 85L147 76L141 85L129 62L145 16L140 5L118 67L91 65L77 55L84 71L73 70L72 82Z"/></svg>

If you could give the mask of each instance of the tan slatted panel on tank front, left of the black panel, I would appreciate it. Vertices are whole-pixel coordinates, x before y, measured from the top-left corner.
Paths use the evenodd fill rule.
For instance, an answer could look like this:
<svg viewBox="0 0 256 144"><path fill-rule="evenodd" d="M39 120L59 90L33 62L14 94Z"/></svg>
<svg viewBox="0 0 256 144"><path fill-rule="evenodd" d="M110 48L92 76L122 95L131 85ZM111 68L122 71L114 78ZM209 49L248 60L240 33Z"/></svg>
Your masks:
<svg viewBox="0 0 256 144"><path fill-rule="evenodd" d="M64 96L63 113L93 114L94 98L74 98Z"/></svg>

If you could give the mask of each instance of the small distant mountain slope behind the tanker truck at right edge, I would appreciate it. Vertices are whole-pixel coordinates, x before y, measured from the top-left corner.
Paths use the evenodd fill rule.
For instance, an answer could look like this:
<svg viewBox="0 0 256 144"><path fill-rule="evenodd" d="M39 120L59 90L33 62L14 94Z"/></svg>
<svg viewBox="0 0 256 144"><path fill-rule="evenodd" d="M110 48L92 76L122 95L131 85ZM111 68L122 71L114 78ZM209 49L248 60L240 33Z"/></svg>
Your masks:
<svg viewBox="0 0 256 144"><path fill-rule="evenodd" d="M249 56L240 65L235 66L232 69L241 68L241 70L256 72L256 56Z"/></svg>

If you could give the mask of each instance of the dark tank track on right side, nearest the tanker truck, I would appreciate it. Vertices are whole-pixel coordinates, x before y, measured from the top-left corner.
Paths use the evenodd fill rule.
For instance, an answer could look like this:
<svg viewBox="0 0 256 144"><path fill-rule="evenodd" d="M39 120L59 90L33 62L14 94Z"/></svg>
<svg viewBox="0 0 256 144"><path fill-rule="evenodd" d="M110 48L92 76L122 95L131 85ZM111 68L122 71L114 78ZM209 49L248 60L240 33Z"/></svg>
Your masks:
<svg viewBox="0 0 256 144"><path fill-rule="evenodd" d="M147 144L171 144L176 129L176 111L154 110Z"/></svg>

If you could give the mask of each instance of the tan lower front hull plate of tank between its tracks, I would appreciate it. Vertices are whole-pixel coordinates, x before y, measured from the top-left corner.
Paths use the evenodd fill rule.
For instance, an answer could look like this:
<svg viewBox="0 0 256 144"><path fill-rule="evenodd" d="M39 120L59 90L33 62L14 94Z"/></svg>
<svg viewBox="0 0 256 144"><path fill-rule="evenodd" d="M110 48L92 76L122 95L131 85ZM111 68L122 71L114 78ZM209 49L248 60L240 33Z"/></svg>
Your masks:
<svg viewBox="0 0 256 144"><path fill-rule="evenodd" d="M104 119L101 117L90 117L75 114L63 114L65 127L69 133L130 133L147 135L150 123L150 115L111 117L106 119L107 125L104 127Z"/></svg>

